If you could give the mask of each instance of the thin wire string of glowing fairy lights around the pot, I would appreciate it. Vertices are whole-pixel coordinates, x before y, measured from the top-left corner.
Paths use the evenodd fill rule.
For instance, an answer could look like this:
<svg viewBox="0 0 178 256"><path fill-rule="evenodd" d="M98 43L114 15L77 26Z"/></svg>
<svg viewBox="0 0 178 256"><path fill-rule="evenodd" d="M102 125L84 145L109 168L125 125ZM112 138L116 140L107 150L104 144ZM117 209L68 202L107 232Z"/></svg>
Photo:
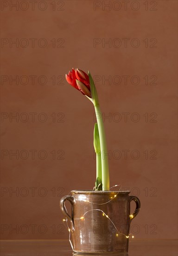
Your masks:
<svg viewBox="0 0 178 256"><path fill-rule="evenodd" d="M112 188L114 188L114 187L119 187L119 186L121 186L121 185L114 185L113 187L111 187L110 189L112 189ZM108 202L104 202L104 203L95 203L95 202L90 202L89 200L85 200L85 199L80 199L80 201L83 201L83 202L89 202L89 203L91 203L91 204L97 204L97 205L103 205L103 204L107 204L107 203L109 203L109 202L111 202L112 200L114 200L114 198L120 193L120 190L121 190L121 187L120 187L120 189L119 189L119 192L117 192L117 194L115 194L114 196L112 196L111 197L111 199L108 201ZM110 191L110 192L114 192L114 191ZM70 194L70 193L69 193ZM68 195L69 195L68 194ZM75 197L75 196L74 196ZM76 197L75 197L75 199L76 199ZM76 199L76 201L77 201L77 199ZM66 212L67 212L67 209L66 209L66 207L65 207L65 204L64 204L64 208L65 208L65 210L66 210ZM119 236L119 234L120 235L123 235L123 236L125 236L126 238L134 238L134 236L133 236L133 234L128 234L128 235L125 235L125 234L123 234L123 233L121 233L117 228L116 228L116 226L115 226L115 224L114 224L114 222L109 218L109 216L104 212L104 211L102 211L101 209L91 209L91 210L88 210L88 211L86 211L84 214L83 214L83 216L81 216L80 218L74 218L74 220L81 220L81 221L84 221L85 220L85 215L87 214L87 213L89 213L90 211L100 211L100 212L102 212L102 216L106 216L107 218L108 218L108 220L113 224L113 226L114 226L114 229L116 230L116 237L118 237ZM140 210L140 209L137 209L137 210ZM131 214L130 215L130 219L132 220L134 218L134 216L133 216L133 214ZM74 250L74 247L73 247L73 244L72 244L72 242L71 242L71 239L70 239L70 233L71 232L73 232L73 230L71 229L71 228L69 228L69 225L68 225L68 219L67 219L67 217L65 218L65 219L63 219L63 222L66 222L66 227L67 227L67 229L68 229L68 231L69 231L69 242L70 242L70 245L71 245L71 248L73 249L73 251L75 251Z"/></svg>

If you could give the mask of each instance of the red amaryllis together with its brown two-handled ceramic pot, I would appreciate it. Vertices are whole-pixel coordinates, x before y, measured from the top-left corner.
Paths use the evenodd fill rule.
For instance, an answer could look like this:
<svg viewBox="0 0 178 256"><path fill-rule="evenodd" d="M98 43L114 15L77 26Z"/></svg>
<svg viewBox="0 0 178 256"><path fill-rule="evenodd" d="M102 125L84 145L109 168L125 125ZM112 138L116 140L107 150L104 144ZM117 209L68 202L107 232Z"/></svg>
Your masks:
<svg viewBox="0 0 178 256"><path fill-rule="evenodd" d="M66 74L67 82L85 95L94 105L96 120L94 148L96 154L96 181L93 190L72 190L60 200L71 247L76 253L122 253L128 252L130 222L140 210L140 200L129 195L130 191L113 191L109 187L107 143L99 100L91 74L72 69ZM117 185L115 185L117 186ZM71 215L65 201L71 203ZM130 202L136 209L130 214Z"/></svg>

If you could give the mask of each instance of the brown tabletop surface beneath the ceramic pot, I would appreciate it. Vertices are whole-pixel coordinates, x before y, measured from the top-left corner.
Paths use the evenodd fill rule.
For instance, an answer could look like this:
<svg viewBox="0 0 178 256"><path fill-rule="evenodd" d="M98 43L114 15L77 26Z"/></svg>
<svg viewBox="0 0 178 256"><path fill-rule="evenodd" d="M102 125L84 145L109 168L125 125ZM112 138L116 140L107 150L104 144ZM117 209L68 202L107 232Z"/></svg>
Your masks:
<svg viewBox="0 0 178 256"><path fill-rule="evenodd" d="M1 240L0 256L73 256L68 240ZM86 254L80 254L80 256ZM88 255L88 254L87 254ZM92 254L93 256L94 254ZM114 254L115 256L116 254ZM128 256L177 256L177 240L133 240ZM102 254L103 256L103 254Z"/></svg>

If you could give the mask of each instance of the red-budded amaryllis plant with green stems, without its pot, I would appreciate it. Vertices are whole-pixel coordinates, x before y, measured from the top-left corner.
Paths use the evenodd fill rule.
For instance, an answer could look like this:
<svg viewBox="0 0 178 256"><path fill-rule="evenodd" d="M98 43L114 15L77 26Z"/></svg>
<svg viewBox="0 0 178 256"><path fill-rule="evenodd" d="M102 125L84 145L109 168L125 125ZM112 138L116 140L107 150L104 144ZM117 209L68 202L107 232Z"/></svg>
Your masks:
<svg viewBox="0 0 178 256"><path fill-rule="evenodd" d="M72 68L66 74L68 83L85 95L94 105L96 120L94 128L94 148L96 153L96 182L94 190L109 190L109 168L107 144L102 121L102 112L98 101L98 94L91 74L83 70Z"/></svg>

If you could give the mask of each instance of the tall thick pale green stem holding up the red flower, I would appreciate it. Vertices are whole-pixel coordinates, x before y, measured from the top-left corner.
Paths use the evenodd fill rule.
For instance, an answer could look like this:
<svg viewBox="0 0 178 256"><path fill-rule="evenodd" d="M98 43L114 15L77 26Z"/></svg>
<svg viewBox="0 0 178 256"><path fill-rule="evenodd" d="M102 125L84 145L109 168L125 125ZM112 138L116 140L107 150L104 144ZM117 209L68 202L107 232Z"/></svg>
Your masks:
<svg viewBox="0 0 178 256"><path fill-rule="evenodd" d="M102 112L99 105L95 106L96 120L98 124L100 146L101 146L101 162L102 162L102 190L109 190L109 167L108 167L108 151L106 144L106 136L104 124L102 121Z"/></svg>

